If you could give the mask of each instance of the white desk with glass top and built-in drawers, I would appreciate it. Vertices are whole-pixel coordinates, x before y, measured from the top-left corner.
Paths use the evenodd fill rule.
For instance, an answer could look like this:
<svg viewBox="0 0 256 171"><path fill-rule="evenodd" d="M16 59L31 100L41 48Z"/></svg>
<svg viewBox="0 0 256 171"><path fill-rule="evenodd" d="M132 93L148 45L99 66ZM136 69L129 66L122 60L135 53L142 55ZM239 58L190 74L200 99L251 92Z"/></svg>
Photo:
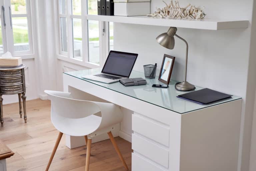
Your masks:
<svg viewBox="0 0 256 171"><path fill-rule="evenodd" d="M81 78L99 70L63 73L64 91L133 111L132 171L237 170L241 98L199 105L177 98L185 92L176 91L174 81L168 89L152 88L161 83L157 77L147 79L147 85L131 87ZM144 78L144 73L133 71L130 77ZM120 127L115 128L118 136ZM70 148L84 145L83 137L66 136L66 142Z"/></svg>

